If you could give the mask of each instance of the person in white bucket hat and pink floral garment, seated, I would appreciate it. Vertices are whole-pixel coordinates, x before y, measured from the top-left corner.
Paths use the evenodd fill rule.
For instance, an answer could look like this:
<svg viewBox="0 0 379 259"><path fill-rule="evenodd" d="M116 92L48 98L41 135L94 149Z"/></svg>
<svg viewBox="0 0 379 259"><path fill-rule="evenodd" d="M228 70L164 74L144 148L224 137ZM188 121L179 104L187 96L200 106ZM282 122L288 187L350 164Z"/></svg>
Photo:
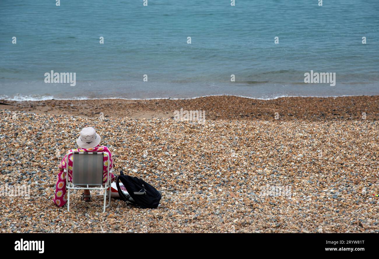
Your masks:
<svg viewBox="0 0 379 259"><path fill-rule="evenodd" d="M92 127L86 127L81 130L80 136L77 139L76 143L78 144L78 149L71 149L69 152L79 151L79 152L104 152L104 154L109 155L109 169L113 167L113 159L112 154L109 151L108 147L106 146L100 146L100 136L96 133L95 129ZM69 153L67 152L67 153ZM62 207L67 202L67 189L66 189L66 175L64 173L64 169L67 168L69 181L72 182L72 165L73 165L73 159L72 155L69 155L68 158L68 167L66 164L67 161L67 154L64 156L63 160L59 164L59 174L56 178L56 189L55 189L55 195L53 197L53 202ZM103 158L103 183L106 183L107 179L107 167L108 167L108 158L104 155ZM113 181L114 175L111 174L111 180ZM91 201L91 195L89 190L84 190L84 193L81 197L82 200L85 202Z"/></svg>

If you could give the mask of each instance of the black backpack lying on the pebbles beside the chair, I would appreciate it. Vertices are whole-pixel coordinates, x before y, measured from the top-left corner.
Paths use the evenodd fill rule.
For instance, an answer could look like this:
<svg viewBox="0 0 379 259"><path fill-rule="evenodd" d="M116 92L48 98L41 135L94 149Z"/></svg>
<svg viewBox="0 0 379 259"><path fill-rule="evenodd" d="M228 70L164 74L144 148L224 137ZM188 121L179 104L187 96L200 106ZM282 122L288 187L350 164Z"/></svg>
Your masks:
<svg viewBox="0 0 379 259"><path fill-rule="evenodd" d="M130 196L125 195L121 191L119 181L124 184ZM146 181L138 177L124 175L122 171L120 171L120 175L116 177L116 185L121 200L124 200L128 205L136 206L141 209L157 208L162 198L162 195L157 189L146 183Z"/></svg>

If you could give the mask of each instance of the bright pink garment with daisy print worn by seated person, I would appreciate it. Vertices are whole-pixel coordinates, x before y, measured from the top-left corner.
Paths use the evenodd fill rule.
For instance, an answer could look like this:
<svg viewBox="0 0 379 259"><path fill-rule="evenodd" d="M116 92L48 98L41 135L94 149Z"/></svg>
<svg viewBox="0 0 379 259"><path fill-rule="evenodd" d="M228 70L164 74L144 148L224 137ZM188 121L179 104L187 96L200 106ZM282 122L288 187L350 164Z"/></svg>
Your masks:
<svg viewBox="0 0 379 259"><path fill-rule="evenodd" d="M75 151L79 151L79 152L104 152L103 183L106 183L107 177L108 177L108 175L106 173L107 167L108 167L107 155L109 155L109 160L110 160L109 170L111 168L113 168L112 154L109 151L108 147L97 145L96 147L89 148L89 149L84 149L84 148L71 149L69 152L75 152ZM67 153L69 153L69 152L67 152ZM69 155L69 159L68 159L69 165L68 165L68 169L67 169L67 171L69 173L69 181L70 182L72 181L72 163L73 163L72 155L73 154ZM56 177L56 189L55 189L55 194L53 197L53 202L60 207L64 206L67 202L66 175L64 173L64 169L67 168L66 158L67 158L67 154L64 156L61 163L59 164L59 174ZM111 174L111 178L113 180L113 178L114 178L113 174Z"/></svg>

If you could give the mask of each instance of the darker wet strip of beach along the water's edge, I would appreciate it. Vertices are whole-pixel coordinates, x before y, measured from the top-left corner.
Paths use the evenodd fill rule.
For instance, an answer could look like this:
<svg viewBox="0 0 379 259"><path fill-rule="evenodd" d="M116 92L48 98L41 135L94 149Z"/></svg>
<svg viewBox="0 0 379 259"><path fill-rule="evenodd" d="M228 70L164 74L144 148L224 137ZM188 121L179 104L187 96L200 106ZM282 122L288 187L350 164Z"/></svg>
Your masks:
<svg viewBox="0 0 379 259"><path fill-rule="evenodd" d="M281 121L379 119L379 96L283 97L259 100L237 96L207 96L194 99L95 99L5 101L0 109L82 117L172 118L175 110L202 110L211 120L269 120L275 113Z"/></svg>

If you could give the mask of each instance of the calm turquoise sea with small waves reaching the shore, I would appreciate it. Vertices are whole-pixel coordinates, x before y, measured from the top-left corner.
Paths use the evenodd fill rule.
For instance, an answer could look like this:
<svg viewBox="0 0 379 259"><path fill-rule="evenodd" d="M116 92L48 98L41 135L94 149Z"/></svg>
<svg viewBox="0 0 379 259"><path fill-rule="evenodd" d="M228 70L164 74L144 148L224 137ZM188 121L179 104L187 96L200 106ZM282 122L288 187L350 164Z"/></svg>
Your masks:
<svg viewBox="0 0 379 259"><path fill-rule="evenodd" d="M0 98L379 95L378 0L143 2L0 0Z"/></svg>

